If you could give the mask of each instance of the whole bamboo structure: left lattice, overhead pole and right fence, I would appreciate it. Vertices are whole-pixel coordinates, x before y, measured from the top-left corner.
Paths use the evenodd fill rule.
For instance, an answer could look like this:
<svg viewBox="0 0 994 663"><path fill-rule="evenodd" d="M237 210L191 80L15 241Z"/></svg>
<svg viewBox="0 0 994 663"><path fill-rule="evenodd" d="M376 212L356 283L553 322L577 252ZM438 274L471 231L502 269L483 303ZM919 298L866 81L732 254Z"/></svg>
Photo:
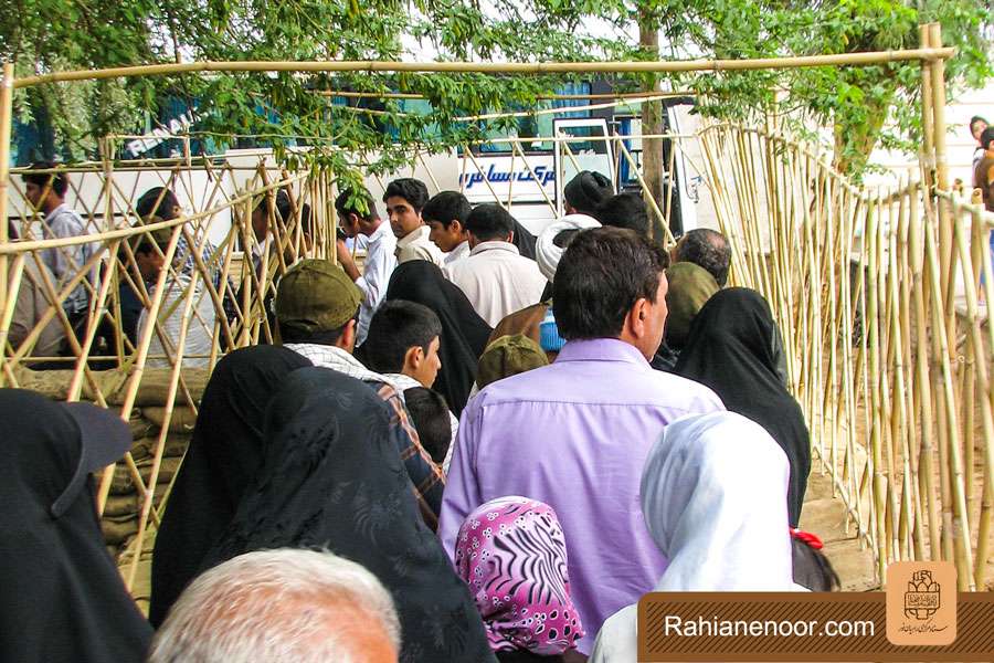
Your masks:
<svg viewBox="0 0 994 663"><path fill-rule="evenodd" d="M690 166L706 178L721 229L733 246L732 278L770 301L815 452L879 569L897 559L951 559L962 589L983 589L994 497L994 330L984 304L994 299L994 275L984 248L994 218L948 191L939 108L944 106L942 61L952 50L942 49L933 33L923 28L922 49L917 51L778 61L190 63L20 81L8 65L0 87L0 211L10 217L11 189L23 194L21 172L9 170L11 91L45 82L207 71L722 71L920 61L927 137L922 179L893 190L856 188L817 155L775 133L715 125L698 136L660 138L673 145L670 172L678 154L684 158L684 144L699 141L705 159ZM637 173L626 138L601 139L612 141L615 167L623 160ZM156 480L170 432L179 425L175 412L183 408L195 414L194 393L225 351L274 340L268 302L289 265L303 256L334 260L336 187L334 175L319 168L288 171L266 159L235 167L192 158L189 148L178 165L125 167L109 158L114 140L105 141L108 156L102 162L64 169L77 191L84 180L101 191L95 201L80 196L89 200L77 208L89 235L46 239L41 217L31 209L13 219L21 235L17 242L8 241L7 224L0 224L0 386L40 388L34 369L49 364L65 367L64 385L54 392L46 387L53 397L92 400L119 410L125 420L138 406L163 406L151 464L142 472L130 454L123 461L141 499L139 532L125 568L131 587L148 546L146 533L154 532L165 505L156 494ZM564 158L577 165L569 137L498 141L509 143L511 159L520 159L538 180L524 147L535 140L561 144ZM462 150L462 186L478 173L494 201L512 209L511 192L498 194L469 147ZM438 178L425 155L414 152L411 173L419 167L427 172L430 189L437 191ZM644 188L641 175L638 180ZM378 183L382 188L383 181ZM134 201L151 186L177 191L189 201L188 209L177 219L139 223ZM663 201L649 197L667 242L673 241L673 186L670 178ZM292 201L287 219L273 203L279 190ZM554 210L554 201L542 194ZM154 251L165 269L142 274L135 249L152 232L162 238L162 231L168 241ZM75 265L59 282L46 275L44 252L72 252L81 243L95 244L86 264ZM88 293L89 315L83 332L74 334L61 304L80 285ZM13 305L29 287L49 306L14 344ZM141 311L131 336L123 332L125 295ZM50 325L68 339L70 356L35 354ZM114 475L115 467L108 467L101 477L102 509Z"/></svg>

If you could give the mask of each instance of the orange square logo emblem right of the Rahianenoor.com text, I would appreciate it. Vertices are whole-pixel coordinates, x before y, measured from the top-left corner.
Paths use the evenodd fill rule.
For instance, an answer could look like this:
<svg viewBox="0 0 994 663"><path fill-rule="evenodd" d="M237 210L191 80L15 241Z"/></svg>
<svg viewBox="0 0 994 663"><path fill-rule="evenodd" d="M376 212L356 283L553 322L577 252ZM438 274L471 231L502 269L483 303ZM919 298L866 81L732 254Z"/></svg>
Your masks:
<svg viewBox="0 0 994 663"><path fill-rule="evenodd" d="M887 640L943 645L956 639L956 567L951 561L898 561L887 567Z"/></svg>

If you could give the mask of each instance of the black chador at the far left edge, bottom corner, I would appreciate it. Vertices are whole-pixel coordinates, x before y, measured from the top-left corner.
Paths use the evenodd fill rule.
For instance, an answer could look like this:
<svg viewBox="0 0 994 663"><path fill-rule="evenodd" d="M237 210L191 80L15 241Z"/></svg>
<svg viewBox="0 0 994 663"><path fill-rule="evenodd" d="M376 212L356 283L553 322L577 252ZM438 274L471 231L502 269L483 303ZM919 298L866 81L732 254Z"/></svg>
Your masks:
<svg viewBox="0 0 994 663"><path fill-rule="evenodd" d="M50 511L80 463L80 427L20 389L0 390L0 661L144 661L152 630L107 555L92 481Z"/></svg>

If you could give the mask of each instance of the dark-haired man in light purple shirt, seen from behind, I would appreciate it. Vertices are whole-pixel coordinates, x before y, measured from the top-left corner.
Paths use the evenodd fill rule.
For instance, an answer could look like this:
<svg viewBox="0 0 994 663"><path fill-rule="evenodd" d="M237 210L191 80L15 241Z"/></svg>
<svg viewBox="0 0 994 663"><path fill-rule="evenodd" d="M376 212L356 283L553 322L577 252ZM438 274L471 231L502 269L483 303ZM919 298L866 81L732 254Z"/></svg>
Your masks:
<svg viewBox="0 0 994 663"><path fill-rule="evenodd" d="M604 620L666 569L638 501L649 448L670 421L725 409L707 387L649 367L666 322L667 265L662 248L630 230L577 235L553 282L568 343L551 366L469 401L442 499L450 556L463 519L489 499L522 495L556 509L583 653Z"/></svg>

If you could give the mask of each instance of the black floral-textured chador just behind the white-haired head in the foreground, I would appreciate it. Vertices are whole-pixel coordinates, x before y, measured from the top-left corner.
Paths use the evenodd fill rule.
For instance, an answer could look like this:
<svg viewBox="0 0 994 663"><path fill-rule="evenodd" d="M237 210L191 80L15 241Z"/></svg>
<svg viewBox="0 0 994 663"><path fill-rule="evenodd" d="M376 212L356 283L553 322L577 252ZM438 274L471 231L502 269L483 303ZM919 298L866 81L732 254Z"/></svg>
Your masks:
<svg viewBox="0 0 994 663"><path fill-rule="evenodd" d="M322 368L287 377L266 412L266 454L204 569L253 550L327 548L369 569L393 596L401 661L494 661L469 590L417 517L367 385Z"/></svg>

